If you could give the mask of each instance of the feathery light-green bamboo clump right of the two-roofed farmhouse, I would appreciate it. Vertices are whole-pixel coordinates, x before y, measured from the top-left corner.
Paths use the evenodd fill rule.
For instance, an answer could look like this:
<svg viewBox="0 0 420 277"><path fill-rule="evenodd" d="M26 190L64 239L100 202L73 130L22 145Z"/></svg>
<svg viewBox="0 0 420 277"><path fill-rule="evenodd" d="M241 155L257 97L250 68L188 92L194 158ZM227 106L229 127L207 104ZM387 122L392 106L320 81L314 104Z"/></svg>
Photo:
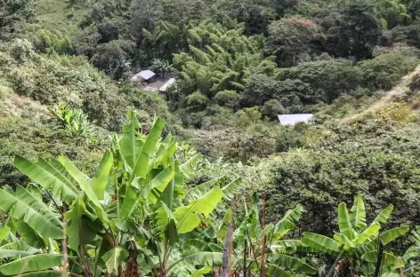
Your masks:
<svg viewBox="0 0 420 277"><path fill-rule="evenodd" d="M219 91L242 91L251 69L270 66L258 51L258 41L242 33L240 25L227 28L209 20L190 28L190 52L174 55L185 94L200 91L213 97Z"/></svg>

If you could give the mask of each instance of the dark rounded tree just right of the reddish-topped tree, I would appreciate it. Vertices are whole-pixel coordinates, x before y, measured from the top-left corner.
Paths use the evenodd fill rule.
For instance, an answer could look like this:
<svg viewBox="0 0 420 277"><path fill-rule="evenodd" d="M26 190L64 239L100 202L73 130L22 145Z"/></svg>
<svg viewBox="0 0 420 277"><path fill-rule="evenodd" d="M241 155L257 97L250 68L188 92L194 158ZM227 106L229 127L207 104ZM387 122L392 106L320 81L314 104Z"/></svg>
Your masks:
<svg viewBox="0 0 420 277"><path fill-rule="evenodd" d="M366 1L350 1L338 12L323 20L327 28L327 49L337 57L356 60L372 56L373 46L381 34L375 5Z"/></svg>

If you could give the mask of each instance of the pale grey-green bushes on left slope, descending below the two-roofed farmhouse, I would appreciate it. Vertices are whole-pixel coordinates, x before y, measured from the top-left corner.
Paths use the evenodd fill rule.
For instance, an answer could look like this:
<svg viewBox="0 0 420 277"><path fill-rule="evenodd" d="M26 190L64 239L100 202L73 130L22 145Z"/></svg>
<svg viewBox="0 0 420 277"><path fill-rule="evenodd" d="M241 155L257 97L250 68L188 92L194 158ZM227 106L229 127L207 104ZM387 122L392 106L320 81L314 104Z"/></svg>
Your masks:
<svg viewBox="0 0 420 277"><path fill-rule="evenodd" d="M110 131L119 131L130 107L171 117L158 93L144 93L127 83L119 88L83 57L47 58L32 51L28 41L16 40L9 51L0 51L0 65L13 91L45 105L64 102L81 108L92 123Z"/></svg>

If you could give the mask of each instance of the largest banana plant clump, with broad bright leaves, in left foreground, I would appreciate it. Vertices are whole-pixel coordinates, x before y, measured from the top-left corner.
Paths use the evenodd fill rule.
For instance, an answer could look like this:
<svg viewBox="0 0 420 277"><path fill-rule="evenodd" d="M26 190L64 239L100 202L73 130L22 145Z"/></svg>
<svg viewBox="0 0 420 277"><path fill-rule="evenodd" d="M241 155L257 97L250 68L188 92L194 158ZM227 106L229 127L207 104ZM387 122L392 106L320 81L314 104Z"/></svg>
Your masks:
<svg viewBox="0 0 420 277"><path fill-rule="evenodd" d="M221 264L218 253L191 253L179 245L240 180L200 194L185 190L174 138L160 139L165 121L158 118L148 135L133 111L128 121L93 177L66 156L37 162L15 157L34 183L0 190L0 209L9 214L0 229L0 274L167 276L188 265L184 272L199 275L195 266Z"/></svg>

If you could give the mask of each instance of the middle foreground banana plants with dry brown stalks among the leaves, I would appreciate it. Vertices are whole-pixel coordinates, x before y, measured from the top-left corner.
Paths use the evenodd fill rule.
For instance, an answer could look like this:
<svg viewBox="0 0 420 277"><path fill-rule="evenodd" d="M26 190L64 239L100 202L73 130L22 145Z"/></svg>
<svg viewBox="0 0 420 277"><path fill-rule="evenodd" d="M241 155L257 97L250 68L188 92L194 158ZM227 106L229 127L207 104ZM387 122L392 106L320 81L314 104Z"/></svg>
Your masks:
<svg viewBox="0 0 420 277"><path fill-rule="evenodd" d="M225 255L229 257L226 261L229 276L274 277L317 272L304 259L294 255L304 251L303 243L291 238L285 239L295 229L303 212L302 206L287 210L277 223L267 225L263 222L264 209L260 218L256 194L252 195L249 209L244 204L244 210L245 217L236 226L232 225L234 211L230 209L225 213L220 226L206 226L198 230L200 232L191 233L190 245L198 250L219 251L221 254L223 250L226 252L231 248L231 252L227 253L230 255ZM226 272L223 267L219 271Z"/></svg>

